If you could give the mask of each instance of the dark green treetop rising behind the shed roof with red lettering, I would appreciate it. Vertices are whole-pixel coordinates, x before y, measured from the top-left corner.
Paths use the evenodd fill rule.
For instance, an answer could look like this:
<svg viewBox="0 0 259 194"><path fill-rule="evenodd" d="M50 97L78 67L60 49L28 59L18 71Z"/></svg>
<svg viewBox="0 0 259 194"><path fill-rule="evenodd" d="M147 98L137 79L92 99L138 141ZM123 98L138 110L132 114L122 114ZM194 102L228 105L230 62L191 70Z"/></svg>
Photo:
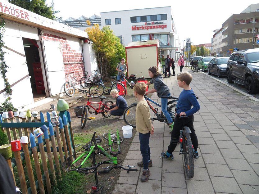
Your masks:
<svg viewBox="0 0 259 194"><path fill-rule="evenodd" d="M46 0L8 0L8 2L51 20L55 20L57 17L54 15L59 12L54 11L54 0L51 1L50 7L46 5Z"/></svg>

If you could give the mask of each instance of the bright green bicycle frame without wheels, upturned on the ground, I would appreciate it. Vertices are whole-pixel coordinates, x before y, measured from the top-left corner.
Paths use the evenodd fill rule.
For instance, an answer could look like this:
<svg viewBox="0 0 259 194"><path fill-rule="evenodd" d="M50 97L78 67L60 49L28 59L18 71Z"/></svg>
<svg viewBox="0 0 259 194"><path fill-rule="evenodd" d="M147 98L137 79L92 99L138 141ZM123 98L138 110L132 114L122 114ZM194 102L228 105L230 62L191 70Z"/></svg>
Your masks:
<svg viewBox="0 0 259 194"><path fill-rule="evenodd" d="M97 145L97 143L102 142L102 139L99 136L95 136L95 134L96 134L96 132L93 133L93 137L92 137L91 141L89 143L85 144L82 147L85 151L75 161L71 162L70 156L68 158L66 158L66 161L64 163L62 163L62 170L63 170L63 172L76 171L76 172L78 172L82 175L94 173L94 175L95 175L95 186L92 187L91 193L92 194L94 194L94 193L101 194L103 186L99 187L98 176L97 176L98 174L108 173L112 169L124 169L124 170L127 171L127 173L130 173L130 171L137 172L138 169L131 169L132 167L135 167L135 166L130 166L130 165L123 166L123 165L120 165L120 163L118 163L117 155L120 154L120 140L119 140L119 130L118 129L117 129L117 132L116 132L118 149L113 149L112 142L111 142L111 135L110 135L110 132L109 132L110 153L105 151L101 146ZM109 160L105 160L105 161L102 161L102 162L96 164L95 150L98 150L98 149ZM86 156L86 157L84 158L82 163L78 167L76 167L75 163L78 162L84 156ZM89 159L90 156L92 156L92 158L93 158L92 166L83 167L84 163ZM109 165L106 168L102 168L104 170L98 171L97 168L99 166L103 165L103 164L112 164L112 165ZM125 168L125 167L128 167L128 168ZM72 169L70 169L70 168L72 168Z"/></svg>

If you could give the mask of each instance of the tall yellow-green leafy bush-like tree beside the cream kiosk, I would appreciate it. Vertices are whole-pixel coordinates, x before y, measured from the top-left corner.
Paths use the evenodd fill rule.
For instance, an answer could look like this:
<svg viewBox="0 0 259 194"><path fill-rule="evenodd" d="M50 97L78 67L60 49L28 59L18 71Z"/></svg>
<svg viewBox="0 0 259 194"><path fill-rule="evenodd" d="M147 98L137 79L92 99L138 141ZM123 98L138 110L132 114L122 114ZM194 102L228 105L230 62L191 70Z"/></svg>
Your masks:
<svg viewBox="0 0 259 194"><path fill-rule="evenodd" d="M93 42L93 50L102 76L106 79L114 75L117 63L126 56L125 47L120 43L120 38L113 34L109 26L104 26L100 30L99 25L95 24L85 31Z"/></svg>

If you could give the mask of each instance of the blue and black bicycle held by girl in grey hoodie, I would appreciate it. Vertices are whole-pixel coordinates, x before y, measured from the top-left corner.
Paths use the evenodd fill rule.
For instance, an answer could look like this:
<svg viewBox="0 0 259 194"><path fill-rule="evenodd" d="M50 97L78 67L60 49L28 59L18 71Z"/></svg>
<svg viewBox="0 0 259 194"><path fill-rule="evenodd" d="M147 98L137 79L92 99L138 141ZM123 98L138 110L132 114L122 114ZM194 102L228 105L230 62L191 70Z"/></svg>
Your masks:
<svg viewBox="0 0 259 194"><path fill-rule="evenodd" d="M163 115L163 113L161 112L160 114L158 114L157 110L158 108L154 108L150 102L154 103L155 105L161 107L160 104L158 104L157 102L154 102L153 100L151 100L150 98L148 98L147 96L144 96L144 98L146 99L149 108L155 113L155 117L151 118L152 121L154 120L158 120L160 122L164 122L169 126L169 123L167 122L166 117ZM168 97L167 97L168 98ZM149 102L150 101L150 102ZM178 98L175 98L175 100L170 101L167 103L167 105L170 105L172 103L174 103L173 105L169 106L167 108L168 113L171 115L171 118L173 120L175 120L175 107L176 107L176 103L178 101ZM137 103L133 103L130 106L128 106L124 113L123 113L123 120L126 124L132 126L132 127L136 127L136 120L135 120L135 113L136 113L136 107L137 107Z"/></svg>

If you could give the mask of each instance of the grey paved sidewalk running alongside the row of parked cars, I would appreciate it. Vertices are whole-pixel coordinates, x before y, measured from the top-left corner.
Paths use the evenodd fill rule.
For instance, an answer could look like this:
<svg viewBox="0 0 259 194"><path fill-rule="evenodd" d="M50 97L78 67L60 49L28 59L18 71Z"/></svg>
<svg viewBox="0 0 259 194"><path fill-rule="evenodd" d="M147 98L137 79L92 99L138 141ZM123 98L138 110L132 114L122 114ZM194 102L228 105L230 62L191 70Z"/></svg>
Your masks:
<svg viewBox="0 0 259 194"><path fill-rule="evenodd" d="M179 68L175 67L176 73ZM259 102L201 72L193 73L191 87L199 97L201 109L194 115L194 128L199 142L199 158L194 161L194 177L184 173L179 145L175 159L161 158L170 142L166 124L154 121L155 133L150 138L151 176L141 182L142 160L136 133L123 165L136 165L138 172L122 170L113 194L220 194L259 193ZM164 79L172 96L179 96L177 78ZM160 103L157 94L152 100Z"/></svg>

